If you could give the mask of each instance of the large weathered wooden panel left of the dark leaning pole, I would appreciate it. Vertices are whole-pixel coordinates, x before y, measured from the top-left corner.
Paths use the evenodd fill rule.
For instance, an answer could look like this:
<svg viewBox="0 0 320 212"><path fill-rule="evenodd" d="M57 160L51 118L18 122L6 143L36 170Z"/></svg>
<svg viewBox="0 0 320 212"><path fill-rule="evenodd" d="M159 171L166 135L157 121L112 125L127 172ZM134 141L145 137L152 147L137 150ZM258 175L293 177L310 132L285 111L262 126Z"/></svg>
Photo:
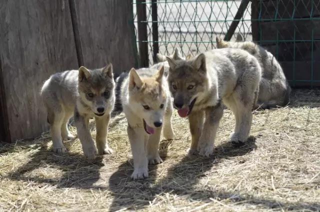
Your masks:
<svg viewBox="0 0 320 212"><path fill-rule="evenodd" d="M77 68L67 0L2 0L1 73L11 141L47 130L39 90L50 74Z"/></svg>

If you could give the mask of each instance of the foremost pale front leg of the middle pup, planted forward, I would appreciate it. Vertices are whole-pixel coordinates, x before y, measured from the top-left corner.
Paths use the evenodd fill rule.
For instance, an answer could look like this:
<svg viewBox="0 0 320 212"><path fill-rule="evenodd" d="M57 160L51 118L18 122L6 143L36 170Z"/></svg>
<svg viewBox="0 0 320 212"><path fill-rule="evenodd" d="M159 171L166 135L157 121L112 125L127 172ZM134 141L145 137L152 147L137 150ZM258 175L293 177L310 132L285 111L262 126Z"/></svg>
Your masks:
<svg viewBox="0 0 320 212"><path fill-rule="evenodd" d="M127 126L128 138L133 156L132 179L143 179L148 177L148 160L146 158L146 136L142 127L133 128Z"/></svg>

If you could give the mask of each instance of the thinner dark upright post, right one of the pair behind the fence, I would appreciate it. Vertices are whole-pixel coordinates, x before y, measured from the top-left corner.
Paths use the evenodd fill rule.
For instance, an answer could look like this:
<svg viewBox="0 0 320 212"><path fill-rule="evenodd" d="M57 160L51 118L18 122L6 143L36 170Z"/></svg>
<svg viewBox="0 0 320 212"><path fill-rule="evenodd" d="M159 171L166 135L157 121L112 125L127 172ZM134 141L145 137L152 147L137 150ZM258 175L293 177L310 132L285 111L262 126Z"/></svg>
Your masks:
<svg viewBox="0 0 320 212"><path fill-rule="evenodd" d="M159 52L159 43L158 43L158 12L156 0L151 0L151 11L152 11L152 46L153 46L153 63L156 61L156 53Z"/></svg>

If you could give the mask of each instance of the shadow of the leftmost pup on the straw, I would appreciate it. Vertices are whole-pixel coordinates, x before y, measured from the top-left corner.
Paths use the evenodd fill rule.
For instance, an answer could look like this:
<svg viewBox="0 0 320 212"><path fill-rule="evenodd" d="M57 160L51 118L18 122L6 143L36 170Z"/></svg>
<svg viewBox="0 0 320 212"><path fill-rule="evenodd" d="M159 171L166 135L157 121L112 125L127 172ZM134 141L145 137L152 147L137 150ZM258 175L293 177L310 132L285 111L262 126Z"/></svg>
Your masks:
<svg viewBox="0 0 320 212"><path fill-rule="evenodd" d="M11 173L7 173L6 177L17 181L34 181L36 183L49 183L57 187L91 187L95 181L99 179L99 169L104 166L102 157L99 156L94 160L87 160L82 152L66 152L64 154L55 154L47 149L49 139L41 143L11 145L5 149L5 152L15 151L15 148L27 148L33 151L29 159L25 163L21 163L20 167ZM31 150L32 149L32 150ZM23 152L23 151L22 151ZM4 152L0 152L4 153ZM59 169L62 175L50 175L51 171L44 170L47 176L38 174L41 169L54 167Z"/></svg>

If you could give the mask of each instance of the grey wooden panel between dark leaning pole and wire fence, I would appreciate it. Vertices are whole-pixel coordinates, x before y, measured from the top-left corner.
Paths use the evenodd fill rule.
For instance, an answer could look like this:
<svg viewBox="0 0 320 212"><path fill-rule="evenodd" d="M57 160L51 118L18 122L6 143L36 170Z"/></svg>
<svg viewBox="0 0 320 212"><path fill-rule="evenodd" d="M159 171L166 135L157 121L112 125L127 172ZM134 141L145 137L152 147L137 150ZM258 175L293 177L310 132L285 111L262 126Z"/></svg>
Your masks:
<svg viewBox="0 0 320 212"><path fill-rule="evenodd" d="M115 76L137 66L132 0L76 0L83 63L112 62Z"/></svg>

